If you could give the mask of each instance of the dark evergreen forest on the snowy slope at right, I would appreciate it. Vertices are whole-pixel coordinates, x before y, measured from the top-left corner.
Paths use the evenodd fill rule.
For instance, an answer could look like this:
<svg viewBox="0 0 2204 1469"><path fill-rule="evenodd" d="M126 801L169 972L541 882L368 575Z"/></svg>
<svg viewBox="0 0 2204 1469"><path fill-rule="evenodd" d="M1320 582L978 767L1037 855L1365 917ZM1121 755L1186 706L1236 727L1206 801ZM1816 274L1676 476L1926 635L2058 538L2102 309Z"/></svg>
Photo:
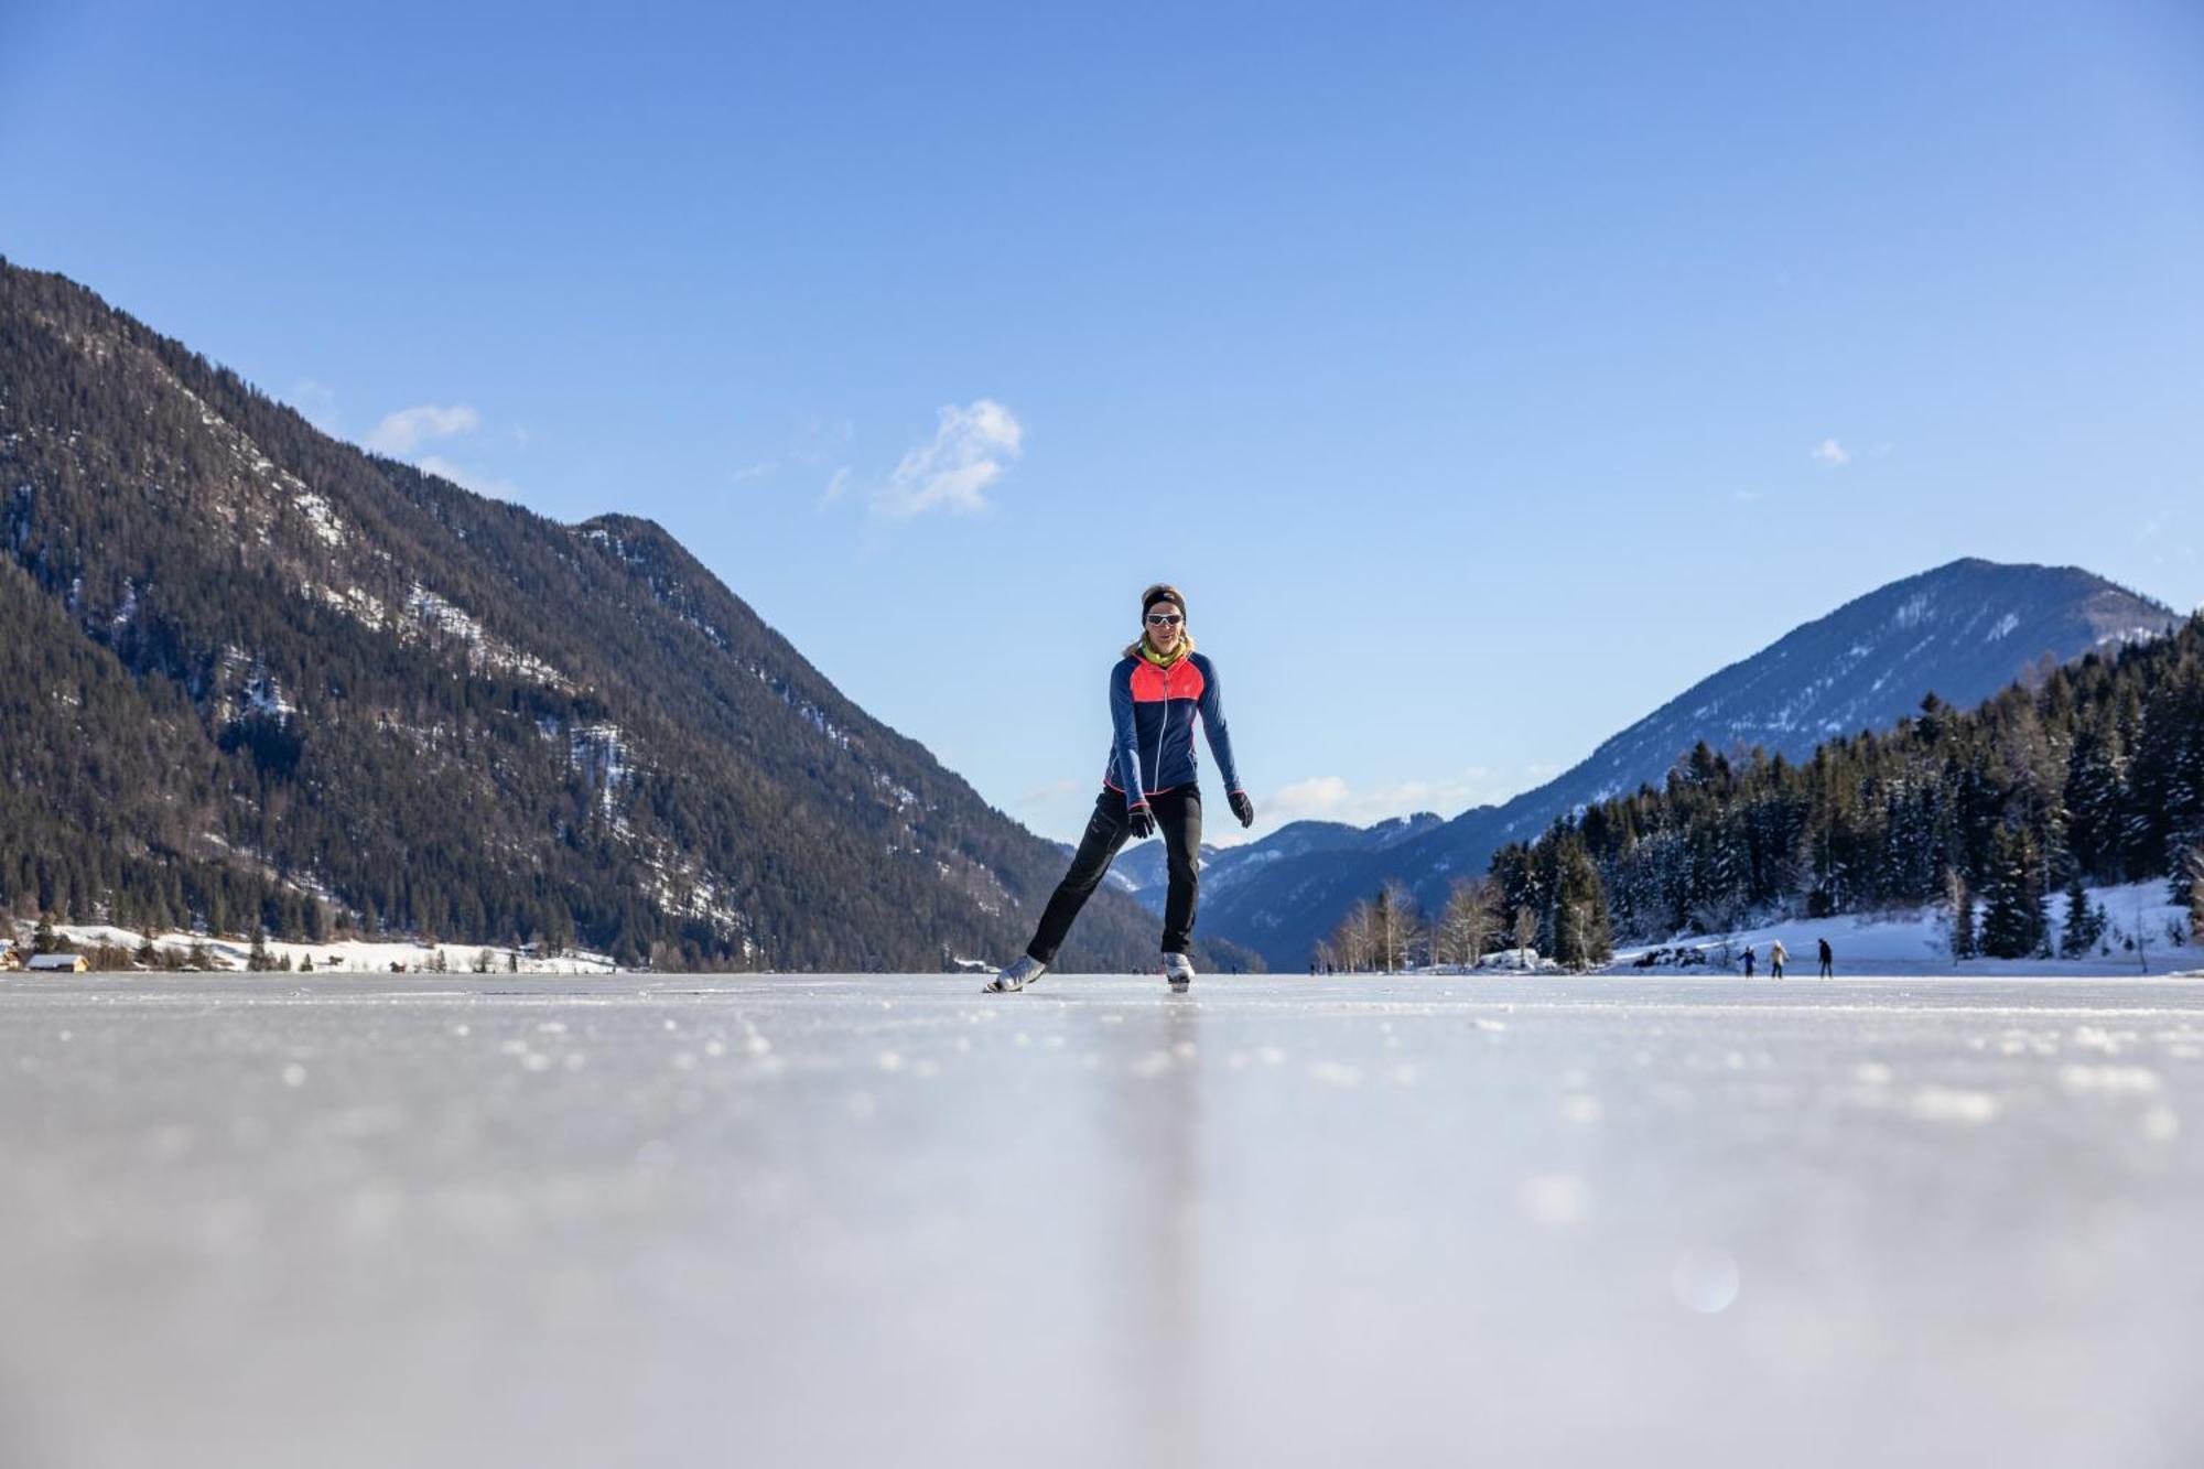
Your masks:
<svg viewBox="0 0 2204 1469"><path fill-rule="evenodd" d="M1726 933L1748 915L1979 898L1981 951L2048 948L2048 907L2081 889L2204 880L2204 613L2175 635L2089 653L1975 710L1931 697L1893 730L1805 761L1708 746L1640 787L1499 851L1505 913L1552 942L1556 876L1582 856L1618 937ZM2070 942L2074 926L2067 926Z"/></svg>

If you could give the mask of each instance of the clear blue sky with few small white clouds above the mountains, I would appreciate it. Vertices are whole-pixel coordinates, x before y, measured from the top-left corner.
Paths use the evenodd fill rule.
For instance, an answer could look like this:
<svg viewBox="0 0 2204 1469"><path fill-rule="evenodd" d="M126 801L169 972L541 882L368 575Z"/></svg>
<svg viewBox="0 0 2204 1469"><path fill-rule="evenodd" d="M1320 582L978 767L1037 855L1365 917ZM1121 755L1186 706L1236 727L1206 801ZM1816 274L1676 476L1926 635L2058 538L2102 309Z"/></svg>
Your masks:
<svg viewBox="0 0 2204 1469"><path fill-rule="evenodd" d="M1153 578L1256 834L1955 556L2204 600L2195 7L317 9L0 7L0 254L663 523L1051 836Z"/></svg>

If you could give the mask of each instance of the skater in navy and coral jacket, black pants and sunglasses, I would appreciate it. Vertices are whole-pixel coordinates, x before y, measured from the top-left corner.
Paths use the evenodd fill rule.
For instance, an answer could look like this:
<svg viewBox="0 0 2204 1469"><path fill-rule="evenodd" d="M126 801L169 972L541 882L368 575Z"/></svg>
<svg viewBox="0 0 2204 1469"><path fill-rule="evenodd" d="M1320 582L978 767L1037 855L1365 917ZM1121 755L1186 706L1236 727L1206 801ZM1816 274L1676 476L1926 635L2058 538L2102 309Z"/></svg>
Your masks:
<svg viewBox="0 0 2204 1469"><path fill-rule="evenodd" d="M1184 990L1195 979L1186 944L1195 933L1195 891L1201 882L1201 787L1195 783L1195 715L1208 735L1225 798L1243 827L1254 825L1254 801L1241 790L1225 732L1223 693L1217 664L1195 653L1186 629L1186 598L1177 587L1155 585L1139 593L1142 635L1109 675L1111 748L1102 768L1102 794L1087 818L1071 869L1040 913L1040 926L1025 955L1003 968L987 988L1023 990L1056 962L1071 920L1093 896L1126 836L1146 840L1157 829L1170 854L1170 891L1164 898L1164 979Z"/></svg>

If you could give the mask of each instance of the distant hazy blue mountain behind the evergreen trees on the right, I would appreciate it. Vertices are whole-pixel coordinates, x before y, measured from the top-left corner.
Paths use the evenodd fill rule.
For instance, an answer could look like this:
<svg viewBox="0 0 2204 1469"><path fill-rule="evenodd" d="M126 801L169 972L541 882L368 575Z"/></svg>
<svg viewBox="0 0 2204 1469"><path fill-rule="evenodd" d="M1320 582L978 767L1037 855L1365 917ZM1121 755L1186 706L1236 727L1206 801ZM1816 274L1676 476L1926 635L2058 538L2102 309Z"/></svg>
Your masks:
<svg viewBox="0 0 2204 1469"><path fill-rule="evenodd" d="M1538 790L1375 851L1331 847L1270 862L1203 902L1201 922L1276 968L1300 966L1353 902L1389 880L1435 911L1455 878L1483 873L1503 845L1660 783L1697 743L1796 761L1834 735L1891 728L1929 693L1968 708L2017 677L2178 624L2167 607L2076 567L1955 560L1856 598L1701 679Z"/></svg>

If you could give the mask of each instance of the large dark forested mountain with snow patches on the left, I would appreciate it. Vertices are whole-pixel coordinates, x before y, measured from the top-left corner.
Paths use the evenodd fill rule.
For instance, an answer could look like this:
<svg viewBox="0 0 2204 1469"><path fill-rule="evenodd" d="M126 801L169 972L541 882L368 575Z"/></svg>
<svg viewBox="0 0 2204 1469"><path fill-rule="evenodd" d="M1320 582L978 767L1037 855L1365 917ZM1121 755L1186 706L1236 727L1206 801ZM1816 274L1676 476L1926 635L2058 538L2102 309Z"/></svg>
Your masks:
<svg viewBox="0 0 2204 1469"><path fill-rule="evenodd" d="M1062 871L648 521L324 437L0 260L0 915L1007 957ZM1067 966L1146 968L1095 898Z"/></svg>

